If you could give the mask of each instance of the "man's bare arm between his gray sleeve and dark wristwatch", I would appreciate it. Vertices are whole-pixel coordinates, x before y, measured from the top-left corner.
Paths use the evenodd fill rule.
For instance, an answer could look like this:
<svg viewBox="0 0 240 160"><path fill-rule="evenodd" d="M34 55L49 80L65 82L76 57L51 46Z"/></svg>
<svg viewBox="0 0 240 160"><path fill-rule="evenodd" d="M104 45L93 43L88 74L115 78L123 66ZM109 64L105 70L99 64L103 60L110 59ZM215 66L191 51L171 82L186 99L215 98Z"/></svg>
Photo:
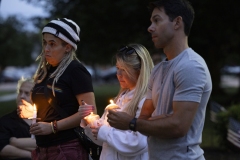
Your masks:
<svg viewBox="0 0 240 160"><path fill-rule="evenodd" d="M142 134L158 138L178 138L186 135L199 103L196 102L173 102L173 114L164 118L150 120L138 119L137 131Z"/></svg>

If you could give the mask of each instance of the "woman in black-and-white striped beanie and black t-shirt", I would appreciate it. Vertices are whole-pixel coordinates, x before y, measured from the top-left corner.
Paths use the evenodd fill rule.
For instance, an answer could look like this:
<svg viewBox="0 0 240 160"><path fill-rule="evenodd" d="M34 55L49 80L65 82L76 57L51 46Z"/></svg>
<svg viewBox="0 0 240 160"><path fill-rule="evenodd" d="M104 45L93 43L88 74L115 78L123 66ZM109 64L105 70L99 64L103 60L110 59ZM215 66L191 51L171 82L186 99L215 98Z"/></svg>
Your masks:
<svg viewBox="0 0 240 160"><path fill-rule="evenodd" d="M85 107L78 112L81 100L95 106L91 75L75 54L79 33L79 26L67 18L52 20L42 30L43 49L32 91L41 121L30 128L38 146L32 159L88 159L74 132L94 110Z"/></svg>

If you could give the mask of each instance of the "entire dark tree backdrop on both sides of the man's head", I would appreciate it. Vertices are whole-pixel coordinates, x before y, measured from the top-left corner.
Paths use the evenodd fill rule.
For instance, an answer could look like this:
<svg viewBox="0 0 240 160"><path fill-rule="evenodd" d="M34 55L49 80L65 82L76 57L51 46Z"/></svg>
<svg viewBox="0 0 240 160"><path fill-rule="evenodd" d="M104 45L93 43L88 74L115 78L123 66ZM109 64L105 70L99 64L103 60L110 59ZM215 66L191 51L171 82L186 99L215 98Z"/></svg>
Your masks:
<svg viewBox="0 0 240 160"><path fill-rule="evenodd" d="M156 50L147 32L150 14L147 5L154 0L25 0L44 5L49 17L38 25L43 27L53 18L70 18L81 28L77 55L90 65L113 64L112 56L121 44L141 43L150 53ZM238 0L191 0L195 21L189 45L207 62L213 81L212 98L232 103L239 101L240 87L235 96L220 87L221 68L240 65L240 18ZM41 20L41 19L39 19ZM36 21L36 19L35 19ZM217 98L218 97L218 98ZM220 97L220 98L219 98ZM220 102L222 103L222 102Z"/></svg>

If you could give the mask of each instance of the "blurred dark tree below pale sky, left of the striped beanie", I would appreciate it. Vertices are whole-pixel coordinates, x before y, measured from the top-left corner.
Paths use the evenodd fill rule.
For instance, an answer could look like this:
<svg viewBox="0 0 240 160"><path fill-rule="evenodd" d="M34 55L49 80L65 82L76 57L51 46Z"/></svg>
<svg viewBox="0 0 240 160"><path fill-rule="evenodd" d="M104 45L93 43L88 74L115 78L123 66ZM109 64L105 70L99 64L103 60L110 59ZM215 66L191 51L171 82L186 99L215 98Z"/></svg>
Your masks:
<svg viewBox="0 0 240 160"><path fill-rule="evenodd" d="M36 34L26 32L23 23L15 16L0 17L0 68L6 66L27 66L33 63L33 39Z"/></svg>

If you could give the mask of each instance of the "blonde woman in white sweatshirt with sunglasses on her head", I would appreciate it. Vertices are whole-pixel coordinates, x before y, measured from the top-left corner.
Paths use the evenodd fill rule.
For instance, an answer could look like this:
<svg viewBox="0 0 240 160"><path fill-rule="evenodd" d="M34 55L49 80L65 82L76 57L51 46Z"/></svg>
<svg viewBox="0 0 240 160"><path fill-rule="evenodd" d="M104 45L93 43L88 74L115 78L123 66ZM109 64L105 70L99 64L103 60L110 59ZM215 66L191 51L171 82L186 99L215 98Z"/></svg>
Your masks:
<svg viewBox="0 0 240 160"><path fill-rule="evenodd" d="M138 117L153 68L149 52L140 44L124 46L116 54L116 67L121 87L115 98L115 103L119 106L117 110ZM139 132L119 130L108 123L93 128L92 132L98 141L103 142L101 160L148 159L147 137Z"/></svg>

